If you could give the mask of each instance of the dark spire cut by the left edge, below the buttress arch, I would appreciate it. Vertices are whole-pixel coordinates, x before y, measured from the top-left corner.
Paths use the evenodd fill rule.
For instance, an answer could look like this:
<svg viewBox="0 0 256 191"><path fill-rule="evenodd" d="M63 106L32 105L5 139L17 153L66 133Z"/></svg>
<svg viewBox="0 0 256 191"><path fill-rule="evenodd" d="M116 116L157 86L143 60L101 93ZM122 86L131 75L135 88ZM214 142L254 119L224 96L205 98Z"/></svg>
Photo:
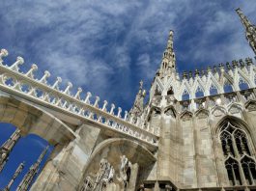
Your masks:
<svg viewBox="0 0 256 191"><path fill-rule="evenodd" d="M12 136L0 147L0 173L3 170L5 164L9 159L11 151L14 149L14 145L20 138L20 130L16 129Z"/></svg>

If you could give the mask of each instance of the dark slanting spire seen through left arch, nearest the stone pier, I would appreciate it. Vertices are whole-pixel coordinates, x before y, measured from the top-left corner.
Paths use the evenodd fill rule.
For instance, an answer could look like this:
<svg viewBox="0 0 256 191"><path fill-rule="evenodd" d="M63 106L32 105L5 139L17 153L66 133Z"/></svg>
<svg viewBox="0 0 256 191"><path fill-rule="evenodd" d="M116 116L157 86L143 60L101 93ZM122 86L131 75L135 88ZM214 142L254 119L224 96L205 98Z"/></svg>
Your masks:
<svg viewBox="0 0 256 191"><path fill-rule="evenodd" d="M17 191L24 191L24 190L28 190L30 185L33 182L34 177L36 177L36 175L39 172L40 169L40 164L43 160L44 155L46 154L46 151L48 150L49 146L47 146L43 152L40 154L38 160L36 163L34 163L30 168L28 173L23 177L23 179L21 180L21 182L19 183L18 187L17 187Z"/></svg>

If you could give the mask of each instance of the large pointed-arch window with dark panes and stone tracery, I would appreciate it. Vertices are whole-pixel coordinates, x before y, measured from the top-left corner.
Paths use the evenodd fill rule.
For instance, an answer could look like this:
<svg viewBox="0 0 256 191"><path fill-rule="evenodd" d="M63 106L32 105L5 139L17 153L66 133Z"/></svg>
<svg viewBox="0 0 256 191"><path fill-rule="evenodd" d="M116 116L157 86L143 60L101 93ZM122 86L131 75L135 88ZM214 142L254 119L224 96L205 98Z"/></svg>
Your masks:
<svg viewBox="0 0 256 191"><path fill-rule="evenodd" d="M219 139L230 184L255 184L256 160L249 144L250 137L243 130L242 125L232 121L225 121L220 127Z"/></svg>

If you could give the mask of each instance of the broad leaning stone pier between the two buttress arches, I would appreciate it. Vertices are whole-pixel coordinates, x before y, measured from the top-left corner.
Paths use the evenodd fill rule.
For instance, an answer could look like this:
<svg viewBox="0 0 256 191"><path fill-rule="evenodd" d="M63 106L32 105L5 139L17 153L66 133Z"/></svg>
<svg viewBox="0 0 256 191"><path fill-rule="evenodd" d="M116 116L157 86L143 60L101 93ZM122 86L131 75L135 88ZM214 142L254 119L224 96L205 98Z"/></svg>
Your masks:
<svg viewBox="0 0 256 191"><path fill-rule="evenodd" d="M76 190L100 129L84 124L75 133L73 141L55 147L31 190Z"/></svg>

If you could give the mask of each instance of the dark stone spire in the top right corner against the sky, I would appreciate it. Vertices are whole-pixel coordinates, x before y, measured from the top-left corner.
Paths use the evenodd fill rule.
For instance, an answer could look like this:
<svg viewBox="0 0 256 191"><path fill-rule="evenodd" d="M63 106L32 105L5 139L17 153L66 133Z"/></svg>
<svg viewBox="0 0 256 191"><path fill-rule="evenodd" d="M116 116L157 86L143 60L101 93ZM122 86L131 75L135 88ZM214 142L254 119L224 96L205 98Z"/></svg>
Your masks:
<svg viewBox="0 0 256 191"><path fill-rule="evenodd" d="M248 18L242 14L242 10L240 8L237 9L236 12L239 14L242 25L245 28L246 40L249 42L254 54L256 54L256 26L251 24Z"/></svg>

